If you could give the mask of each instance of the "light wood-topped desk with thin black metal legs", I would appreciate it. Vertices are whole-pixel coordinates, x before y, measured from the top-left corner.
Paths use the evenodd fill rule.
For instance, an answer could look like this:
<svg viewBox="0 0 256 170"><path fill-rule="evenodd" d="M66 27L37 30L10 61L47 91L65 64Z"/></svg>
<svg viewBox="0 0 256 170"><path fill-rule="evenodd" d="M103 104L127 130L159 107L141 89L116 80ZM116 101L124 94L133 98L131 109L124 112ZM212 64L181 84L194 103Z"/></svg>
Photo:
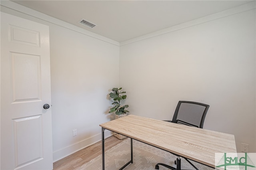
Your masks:
<svg viewBox="0 0 256 170"><path fill-rule="evenodd" d="M103 123L100 127L102 127L102 170L104 170L105 129L131 138L131 145L132 139L135 139L212 168L215 168L215 153L236 152L233 134L189 127L146 117L128 115ZM129 163L132 163L132 158Z"/></svg>

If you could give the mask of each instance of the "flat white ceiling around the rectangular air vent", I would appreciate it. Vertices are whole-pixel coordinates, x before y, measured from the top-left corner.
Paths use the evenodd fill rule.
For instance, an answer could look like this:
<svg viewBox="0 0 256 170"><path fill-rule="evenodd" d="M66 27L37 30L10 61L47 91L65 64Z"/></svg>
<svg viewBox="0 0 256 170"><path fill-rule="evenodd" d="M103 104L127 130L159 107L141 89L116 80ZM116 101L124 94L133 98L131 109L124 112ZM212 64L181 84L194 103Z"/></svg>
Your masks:
<svg viewBox="0 0 256 170"><path fill-rule="evenodd" d="M13 0L117 42L246 4L246 0ZM96 26L79 24L81 19Z"/></svg>

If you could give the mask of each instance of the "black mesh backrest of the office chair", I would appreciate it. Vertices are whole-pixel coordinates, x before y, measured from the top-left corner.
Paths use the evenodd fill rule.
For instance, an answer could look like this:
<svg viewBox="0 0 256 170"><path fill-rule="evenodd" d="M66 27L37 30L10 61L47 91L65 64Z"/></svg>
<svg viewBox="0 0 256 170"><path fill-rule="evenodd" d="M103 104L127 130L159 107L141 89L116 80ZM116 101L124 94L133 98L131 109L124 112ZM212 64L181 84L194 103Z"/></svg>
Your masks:
<svg viewBox="0 0 256 170"><path fill-rule="evenodd" d="M172 118L173 123L203 128L209 105L193 101L179 101Z"/></svg>

